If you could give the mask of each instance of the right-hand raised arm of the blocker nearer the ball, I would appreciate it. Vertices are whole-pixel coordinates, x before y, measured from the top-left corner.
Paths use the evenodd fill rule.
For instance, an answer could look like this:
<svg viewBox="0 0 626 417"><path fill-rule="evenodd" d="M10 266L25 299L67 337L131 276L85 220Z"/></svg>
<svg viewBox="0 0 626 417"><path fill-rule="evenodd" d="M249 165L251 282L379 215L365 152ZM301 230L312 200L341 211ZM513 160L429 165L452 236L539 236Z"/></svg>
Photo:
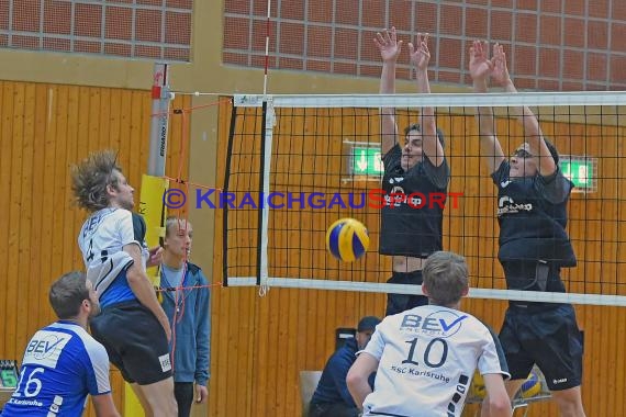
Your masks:
<svg viewBox="0 0 626 417"><path fill-rule="evenodd" d="M417 33L415 46L409 44L409 50L411 53L411 64L415 66L417 92L428 94L431 93L431 84L428 82L428 61L431 60L428 34ZM422 108L420 110L420 126L424 154L435 167L438 167L444 164L444 147L437 138L434 108Z"/></svg>

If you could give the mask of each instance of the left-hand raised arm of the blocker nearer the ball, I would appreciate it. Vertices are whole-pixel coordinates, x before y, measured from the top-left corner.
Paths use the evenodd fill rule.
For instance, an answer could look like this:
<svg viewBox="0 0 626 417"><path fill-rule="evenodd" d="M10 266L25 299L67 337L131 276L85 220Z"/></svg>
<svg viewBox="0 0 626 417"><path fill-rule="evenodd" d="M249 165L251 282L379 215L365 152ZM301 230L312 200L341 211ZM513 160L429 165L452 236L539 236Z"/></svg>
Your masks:
<svg viewBox="0 0 626 417"><path fill-rule="evenodd" d="M382 34L377 33L373 43L379 48L382 58L379 92L381 94L393 94L395 93L395 63L402 49L402 41L398 41L395 27L391 27L391 32L385 29ZM398 143L395 109L380 109L380 134L382 137L382 155L385 155Z"/></svg>

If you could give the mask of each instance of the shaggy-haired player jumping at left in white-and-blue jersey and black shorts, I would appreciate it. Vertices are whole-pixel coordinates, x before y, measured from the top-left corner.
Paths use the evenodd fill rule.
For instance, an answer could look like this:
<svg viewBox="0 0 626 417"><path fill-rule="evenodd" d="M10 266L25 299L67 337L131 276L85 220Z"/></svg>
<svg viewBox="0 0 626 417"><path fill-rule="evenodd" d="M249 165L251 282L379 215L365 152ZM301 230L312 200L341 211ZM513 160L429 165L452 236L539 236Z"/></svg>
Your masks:
<svg viewBox="0 0 626 417"><path fill-rule="evenodd" d="M91 154L72 168L78 205L91 213L78 245L102 313L93 337L131 384L147 416L177 414L169 340L171 329L146 274L146 224L131 212L134 189L112 151ZM159 260L160 261L160 260Z"/></svg>

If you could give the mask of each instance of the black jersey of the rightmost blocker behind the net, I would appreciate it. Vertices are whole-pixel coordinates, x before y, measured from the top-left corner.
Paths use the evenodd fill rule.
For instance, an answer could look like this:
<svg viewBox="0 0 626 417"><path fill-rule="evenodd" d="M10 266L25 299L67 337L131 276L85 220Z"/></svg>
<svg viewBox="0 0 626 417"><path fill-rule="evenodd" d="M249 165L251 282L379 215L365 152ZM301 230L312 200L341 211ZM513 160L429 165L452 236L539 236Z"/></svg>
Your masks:
<svg viewBox="0 0 626 417"><path fill-rule="evenodd" d="M549 177L511 179L504 160L492 179L498 187L501 262L544 260L573 267L575 255L566 233L567 203L573 183L560 169Z"/></svg>

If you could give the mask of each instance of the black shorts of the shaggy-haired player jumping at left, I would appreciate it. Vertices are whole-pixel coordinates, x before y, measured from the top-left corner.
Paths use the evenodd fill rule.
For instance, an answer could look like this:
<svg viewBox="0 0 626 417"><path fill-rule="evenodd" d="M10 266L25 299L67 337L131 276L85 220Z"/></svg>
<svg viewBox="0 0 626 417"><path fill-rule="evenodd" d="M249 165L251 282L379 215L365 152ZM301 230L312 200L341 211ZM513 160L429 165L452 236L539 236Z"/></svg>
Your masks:
<svg viewBox="0 0 626 417"><path fill-rule="evenodd" d="M163 326L138 301L114 304L91 319L91 334L109 353L124 381L153 384L171 376Z"/></svg>

